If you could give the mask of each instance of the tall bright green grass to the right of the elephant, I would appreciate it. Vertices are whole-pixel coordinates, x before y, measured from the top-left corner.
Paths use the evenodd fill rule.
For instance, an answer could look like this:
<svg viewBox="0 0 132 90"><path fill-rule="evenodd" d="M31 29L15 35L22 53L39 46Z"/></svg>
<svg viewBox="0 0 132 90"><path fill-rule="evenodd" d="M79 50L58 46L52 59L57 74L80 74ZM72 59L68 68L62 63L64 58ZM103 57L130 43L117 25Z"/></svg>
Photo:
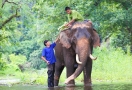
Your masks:
<svg viewBox="0 0 132 90"><path fill-rule="evenodd" d="M98 56L93 62L92 78L95 81L130 81L132 56L126 55L121 48L104 47L94 51L94 55Z"/></svg>

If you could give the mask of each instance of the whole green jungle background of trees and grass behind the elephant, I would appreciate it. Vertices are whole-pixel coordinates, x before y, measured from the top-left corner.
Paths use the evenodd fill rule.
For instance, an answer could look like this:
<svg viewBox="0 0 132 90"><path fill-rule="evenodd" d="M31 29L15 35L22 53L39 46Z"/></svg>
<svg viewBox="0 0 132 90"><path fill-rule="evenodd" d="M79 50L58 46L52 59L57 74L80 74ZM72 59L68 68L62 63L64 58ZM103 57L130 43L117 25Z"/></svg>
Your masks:
<svg viewBox="0 0 132 90"><path fill-rule="evenodd" d="M93 83L131 82L132 0L0 0L0 80L47 83L43 41L56 39L58 27L67 21L66 6L91 20L100 35L101 47L93 52L98 57ZM80 75L76 82L82 81Z"/></svg>

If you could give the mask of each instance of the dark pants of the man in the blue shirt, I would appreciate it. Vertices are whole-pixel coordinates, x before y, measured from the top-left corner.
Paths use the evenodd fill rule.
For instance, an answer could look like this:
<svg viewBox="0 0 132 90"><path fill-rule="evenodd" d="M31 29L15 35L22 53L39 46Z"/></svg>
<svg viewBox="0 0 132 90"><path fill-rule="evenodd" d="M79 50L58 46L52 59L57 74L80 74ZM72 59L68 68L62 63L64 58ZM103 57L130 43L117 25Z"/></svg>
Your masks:
<svg viewBox="0 0 132 90"><path fill-rule="evenodd" d="M48 87L54 87L55 63L48 65Z"/></svg>

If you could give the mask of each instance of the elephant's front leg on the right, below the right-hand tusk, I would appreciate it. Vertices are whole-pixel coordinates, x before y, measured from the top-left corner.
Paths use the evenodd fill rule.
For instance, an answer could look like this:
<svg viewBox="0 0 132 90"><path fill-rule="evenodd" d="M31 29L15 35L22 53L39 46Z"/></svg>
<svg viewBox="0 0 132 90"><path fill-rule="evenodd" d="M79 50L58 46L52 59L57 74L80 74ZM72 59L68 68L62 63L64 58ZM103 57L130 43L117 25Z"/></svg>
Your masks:
<svg viewBox="0 0 132 90"><path fill-rule="evenodd" d="M92 60L88 59L86 66L84 67L83 74L84 74L84 85L90 86L92 85L91 82L91 72L92 72Z"/></svg>

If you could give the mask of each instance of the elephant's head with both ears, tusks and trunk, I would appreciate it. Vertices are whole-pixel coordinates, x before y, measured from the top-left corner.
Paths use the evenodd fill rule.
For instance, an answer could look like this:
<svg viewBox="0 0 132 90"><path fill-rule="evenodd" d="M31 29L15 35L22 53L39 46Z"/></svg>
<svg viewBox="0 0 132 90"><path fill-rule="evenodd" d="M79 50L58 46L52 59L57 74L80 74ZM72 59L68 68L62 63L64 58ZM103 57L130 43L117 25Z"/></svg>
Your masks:
<svg viewBox="0 0 132 90"><path fill-rule="evenodd" d="M68 83L80 75L88 58L96 59L92 56L92 49L100 45L99 36L90 23L76 22L71 29L60 33L60 43L67 49L74 49L76 61L79 64L76 71L66 79L65 83Z"/></svg>

